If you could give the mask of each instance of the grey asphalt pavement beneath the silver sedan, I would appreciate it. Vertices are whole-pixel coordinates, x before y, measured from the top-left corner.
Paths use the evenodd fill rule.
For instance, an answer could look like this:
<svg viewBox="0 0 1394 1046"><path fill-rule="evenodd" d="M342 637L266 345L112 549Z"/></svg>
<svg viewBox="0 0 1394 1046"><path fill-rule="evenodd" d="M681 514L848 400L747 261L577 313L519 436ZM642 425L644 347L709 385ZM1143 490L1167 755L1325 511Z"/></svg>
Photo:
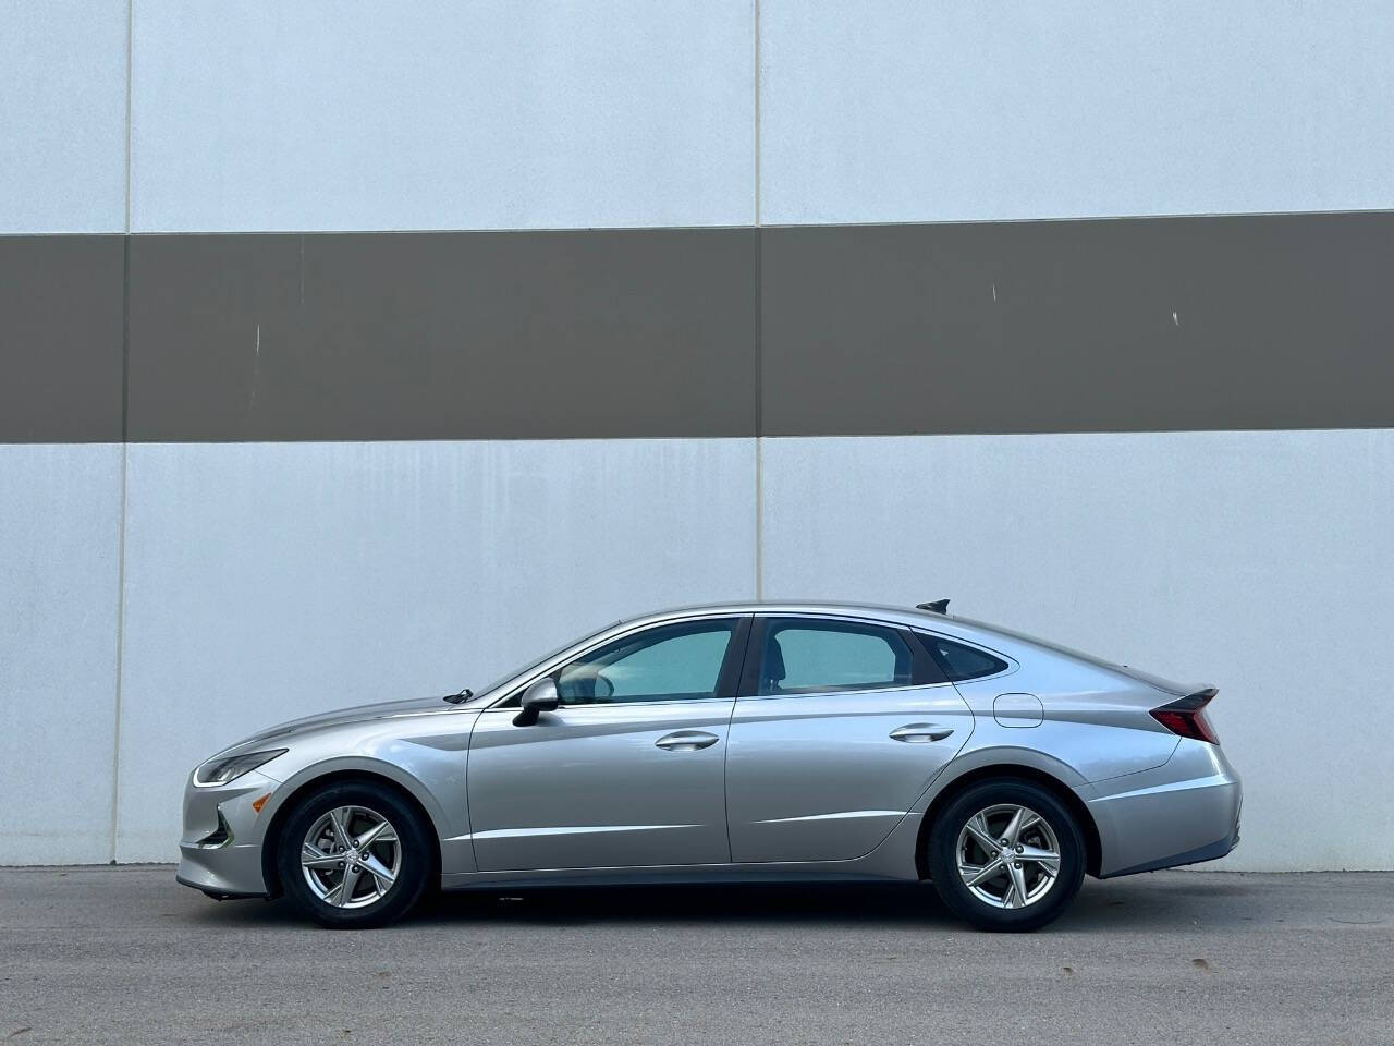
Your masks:
<svg viewBox="0 0 1394 1046"><path fill-rule="evenodd" d="M916 886L450 894L388 930L170 866L0 869L0 1043L1394 1042L1394 874L1086 880L1033 934Z"/></svg>

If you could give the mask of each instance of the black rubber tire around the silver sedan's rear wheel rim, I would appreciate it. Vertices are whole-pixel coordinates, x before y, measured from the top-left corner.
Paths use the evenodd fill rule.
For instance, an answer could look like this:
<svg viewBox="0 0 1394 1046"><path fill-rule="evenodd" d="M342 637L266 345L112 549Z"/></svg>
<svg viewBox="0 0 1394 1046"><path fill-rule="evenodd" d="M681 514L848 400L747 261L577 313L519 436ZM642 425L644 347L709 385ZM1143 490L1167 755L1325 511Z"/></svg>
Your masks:
<svg viewBox="0 0 1394 1046"><path fill-rule="evenodd" d="M994 806L1012 805L1034 812L1054 833L1059 847L1059 872L1037 900L1026 907L1008 909L990 904L967 887L959 874L956 849L959 834L972 817ZM930 876L944 904L980 930L1025 932L1054 922L1075 900L1085 879L1085 835L1075 817L1050 789L1020 778L980 781L966 788L938 813L926 845ZM987 863L983 861L980 866L986 867ZM1044 876L1037 865L1027 862L1026 867L1026 874L1033 877L1027 886L1030 893ZM987 893L994 893L995 888L1006 893L1002 879L987 881L981 888Z"/></svg>

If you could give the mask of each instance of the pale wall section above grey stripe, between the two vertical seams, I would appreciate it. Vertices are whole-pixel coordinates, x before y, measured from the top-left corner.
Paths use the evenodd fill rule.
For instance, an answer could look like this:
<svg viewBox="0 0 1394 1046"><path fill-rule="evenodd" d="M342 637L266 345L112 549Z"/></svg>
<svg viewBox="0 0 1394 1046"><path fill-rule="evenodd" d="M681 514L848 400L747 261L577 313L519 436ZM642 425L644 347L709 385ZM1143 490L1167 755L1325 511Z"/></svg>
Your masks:
<svg viewBox="0 0 1394 1046"><path fill-rule="evenodd" d="M740 225L750 0L135 8L137 232Z"/></svg>

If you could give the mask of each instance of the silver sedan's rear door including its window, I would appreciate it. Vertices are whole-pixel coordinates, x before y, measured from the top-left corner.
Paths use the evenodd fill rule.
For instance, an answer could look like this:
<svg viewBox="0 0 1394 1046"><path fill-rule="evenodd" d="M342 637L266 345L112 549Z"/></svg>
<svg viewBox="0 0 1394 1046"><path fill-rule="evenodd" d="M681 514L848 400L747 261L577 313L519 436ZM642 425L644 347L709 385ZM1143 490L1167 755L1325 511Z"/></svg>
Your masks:
<svg viewBox="0 0 1394 1046"><path fill-rule="evenodd" d="M757 616L726 756L732 861L871 852L972 731L906 629Z"/></svg>

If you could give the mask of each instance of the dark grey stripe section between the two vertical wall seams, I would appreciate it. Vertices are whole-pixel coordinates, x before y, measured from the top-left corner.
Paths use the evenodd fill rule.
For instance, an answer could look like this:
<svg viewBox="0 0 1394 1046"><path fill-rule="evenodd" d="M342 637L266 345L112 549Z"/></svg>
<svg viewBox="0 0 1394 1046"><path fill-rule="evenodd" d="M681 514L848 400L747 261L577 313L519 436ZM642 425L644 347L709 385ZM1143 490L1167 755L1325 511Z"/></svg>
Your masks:
<svg viewBox="0 0 1394 1046"><path fill-rule="evenodd" d="M132 441L750 435L756 233L138 236Z"/></svg>

